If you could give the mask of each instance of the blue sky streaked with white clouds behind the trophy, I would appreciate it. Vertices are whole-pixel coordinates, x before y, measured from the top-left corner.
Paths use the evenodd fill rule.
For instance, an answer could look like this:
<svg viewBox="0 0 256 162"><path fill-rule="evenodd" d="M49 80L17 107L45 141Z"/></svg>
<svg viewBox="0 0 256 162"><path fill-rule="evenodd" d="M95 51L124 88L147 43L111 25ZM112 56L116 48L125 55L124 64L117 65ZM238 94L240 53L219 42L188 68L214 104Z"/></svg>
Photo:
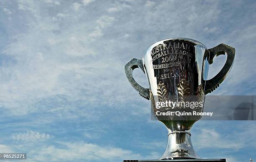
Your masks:
<svg viewBox="0 0 256 162"><path fill-rule="evenodd" d="M253 0L1 0L0 15L0 152L27 153L27 162L159 158L166 128L151 121L123 65L169 37L235 47L211 95L256 94ZM148 86L140 70L134 76ZM254 121L199 121L192 142L203 158L248 162L255 134Z"/></svg>

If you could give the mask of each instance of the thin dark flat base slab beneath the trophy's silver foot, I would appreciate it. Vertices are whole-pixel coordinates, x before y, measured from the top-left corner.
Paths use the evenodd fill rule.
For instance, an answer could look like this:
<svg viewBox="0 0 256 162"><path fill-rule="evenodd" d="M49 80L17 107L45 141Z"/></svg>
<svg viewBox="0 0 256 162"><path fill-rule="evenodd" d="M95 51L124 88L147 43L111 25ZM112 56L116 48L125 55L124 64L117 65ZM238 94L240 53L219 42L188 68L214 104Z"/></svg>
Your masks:
<svg viewBox="0 0 256 162"><path fill-rule="evenodd" d="M226 159L123 160L123 162L226 162Z"/></svg>

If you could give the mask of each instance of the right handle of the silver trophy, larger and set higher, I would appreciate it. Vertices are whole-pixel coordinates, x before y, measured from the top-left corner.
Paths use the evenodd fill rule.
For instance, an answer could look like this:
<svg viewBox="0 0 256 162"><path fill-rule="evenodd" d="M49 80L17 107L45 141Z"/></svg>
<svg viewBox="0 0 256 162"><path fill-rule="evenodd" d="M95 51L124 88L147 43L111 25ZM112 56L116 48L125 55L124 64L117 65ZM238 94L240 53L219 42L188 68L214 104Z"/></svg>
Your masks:
<svg viewBox="0 0 256 162"><path fill-rule="evenodd" d="M215 56L218 57L219 55L227 54L228 57L225 62L225 65L220 70L220 72L212 79L205 80L205 95L207 93L212 92L213 90L215 90L217 87L220 86L220 83L223 82L225 77L228 75L228 72L231 70L234 62L234 57L235 57L235 48L225 45L223 43L209 49L209 52L210 52L210 55L209 57L207 57L209 64L212 64L213 58Z"/></svg>

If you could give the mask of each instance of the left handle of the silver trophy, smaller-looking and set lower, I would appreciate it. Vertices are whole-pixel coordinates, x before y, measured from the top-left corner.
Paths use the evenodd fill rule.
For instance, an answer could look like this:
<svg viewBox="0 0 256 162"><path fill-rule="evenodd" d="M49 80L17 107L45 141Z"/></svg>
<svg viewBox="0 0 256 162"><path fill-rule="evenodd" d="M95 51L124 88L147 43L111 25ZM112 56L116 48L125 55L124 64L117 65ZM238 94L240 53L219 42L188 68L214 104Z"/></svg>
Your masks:
<svg viewBox="0 0 256 162"><path fill-rule="evenodd" d="M138 91L138 93L149 100L149 90L148 88L141 87L133 78L133 70L136 68L140 68L144 73L144 68L143 68L143 63L142 60L138 60L136 58L133 58L131 61L129 61L127 64L125 64L124 69L125 69L125 75L130 82L131 86Z"/></svg>

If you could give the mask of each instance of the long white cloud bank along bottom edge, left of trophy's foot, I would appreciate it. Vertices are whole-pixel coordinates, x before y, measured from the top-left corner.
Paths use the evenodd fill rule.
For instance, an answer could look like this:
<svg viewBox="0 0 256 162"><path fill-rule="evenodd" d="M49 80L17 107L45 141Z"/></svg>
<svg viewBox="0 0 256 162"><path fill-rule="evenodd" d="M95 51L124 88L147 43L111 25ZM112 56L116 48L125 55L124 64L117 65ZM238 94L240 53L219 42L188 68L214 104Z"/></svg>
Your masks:
<svg viewBox="0 0 256 162"><path fill-rule="evenodd" d="M34 155L34 160L39 161L74 161L74 160L123 160L141 158L130 150L119 147L100 146L91 143L60 143L62 148L44 146L29 152Z"/></svg>

